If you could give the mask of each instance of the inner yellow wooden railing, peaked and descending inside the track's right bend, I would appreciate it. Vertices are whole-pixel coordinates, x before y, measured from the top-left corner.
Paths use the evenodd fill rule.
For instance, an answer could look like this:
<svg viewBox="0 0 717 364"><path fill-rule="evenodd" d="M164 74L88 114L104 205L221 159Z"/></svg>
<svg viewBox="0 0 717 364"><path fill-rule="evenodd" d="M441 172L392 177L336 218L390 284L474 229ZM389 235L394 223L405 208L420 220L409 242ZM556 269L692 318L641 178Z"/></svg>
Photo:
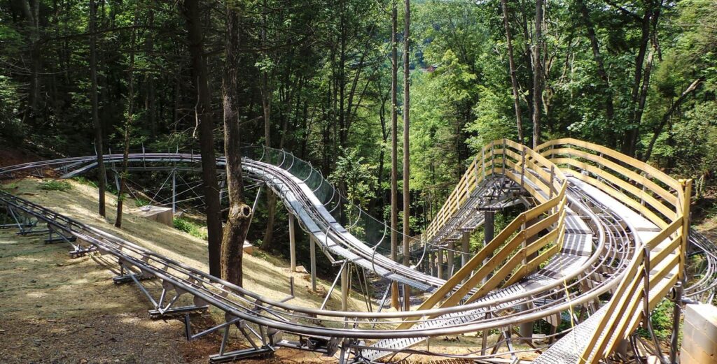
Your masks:
<svg viewBox="0 0 717 364"><path fill-rule="evenodd" d="M473 302L495 288L521 280L560 251L565 233L566 178L546 157L506 139L491 142L475 157L424 236L429 239L440 231L491 174L504 174L527 190L538 205L518 215L418 310L433 308L441 301L441 308L457 305L478 288L465 303ZM407 319L399 329L410 328L417 319Z"/></svg>

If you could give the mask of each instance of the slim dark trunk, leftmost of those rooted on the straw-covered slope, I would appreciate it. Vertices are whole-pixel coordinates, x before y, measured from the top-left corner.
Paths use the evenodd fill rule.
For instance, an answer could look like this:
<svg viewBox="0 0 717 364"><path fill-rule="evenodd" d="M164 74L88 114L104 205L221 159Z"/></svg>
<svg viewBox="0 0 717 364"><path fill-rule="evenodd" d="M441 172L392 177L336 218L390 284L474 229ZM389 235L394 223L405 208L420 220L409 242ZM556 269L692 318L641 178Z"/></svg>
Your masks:
<svg viewBox="0 0 717 364"><path fill-rule="evenodd" d="M90 101L92 102L92 125L95 127L95 150L97 152L97 179L99 187L99 213L101 216L107 215L105 212L105 190L107 190L104 160L104 147L102 137L102 124L100 123L100 104L98 102L98 84L97 84L97 5L95 0L90 0Z"/></svg>

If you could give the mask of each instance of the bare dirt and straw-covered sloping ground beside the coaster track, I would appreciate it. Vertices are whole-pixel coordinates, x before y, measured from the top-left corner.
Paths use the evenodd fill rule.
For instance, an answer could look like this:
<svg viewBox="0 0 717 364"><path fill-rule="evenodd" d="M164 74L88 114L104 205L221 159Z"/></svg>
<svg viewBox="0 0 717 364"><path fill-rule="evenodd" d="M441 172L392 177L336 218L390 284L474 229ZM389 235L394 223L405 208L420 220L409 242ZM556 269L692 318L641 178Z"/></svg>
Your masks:
<svg viewBox="0 0 717 364"><path fill-rule="evenodd" d="M133 215L133 200L125 202L123 229L113 227L116 200L107 195L108 217L98 217L94 187L70 181L66 192L39 189L40 180L27 178L3 185L23 198L143 245L160 254L206 270L206 242L184 232ZM219 334L186 341L179 320L151 320L146 297L132 284L115 285L117 265L90 255L71 259L68 245L44 244L46 235L22 237L16 230L0 230L0 363L207 363L219 351ZM295 277L295 305L318 307L331 282L320 280L319 292L310 292L308 275L291 273L288 263L275 257L244 255L244 285L261 295L282 299ZM272 279L267 280L267 277ZM158 295L156 282L148 290ZM323 293L322 293L323 292ZM340 306L338 292L328 308ZM360 297L351 297L353 310L365 310ZM222 320L221 313L201 318L196 330ZM193 323L195 319L193 319ZM204 321L204 322L201 322ZM232 335L231 348L247 344ZM286 336L285 336L286 338ZM489 340L490 341L494 341ZM430 350L470 353L480 348L470 336L434 338ZM416 349L427 349L418 345ZM399 358L399 357L397 357ZM394 358L397 359L397 358ZM412 363L435 358L412 355ZM335 362L315 353L280 348L269 360L247 363ZM455 361L452 361L455 363Z"/></svg>

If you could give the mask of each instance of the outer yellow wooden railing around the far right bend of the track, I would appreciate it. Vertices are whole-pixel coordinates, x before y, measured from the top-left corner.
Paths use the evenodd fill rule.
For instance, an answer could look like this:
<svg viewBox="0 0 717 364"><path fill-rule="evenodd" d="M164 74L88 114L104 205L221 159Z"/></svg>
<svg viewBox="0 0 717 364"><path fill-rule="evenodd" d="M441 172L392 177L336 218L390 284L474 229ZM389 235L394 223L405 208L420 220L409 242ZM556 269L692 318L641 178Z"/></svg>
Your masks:
<svg viewBox="0 0 717 364"><path fill-rule="evenodd" d="M660 228L637 246L581 353L581 363L598 363L644 325L645 305L649 312L684 279L692 181L678 181L650 164L577 139L551 140L536 150L566 174L611 195Z"/></svg>

